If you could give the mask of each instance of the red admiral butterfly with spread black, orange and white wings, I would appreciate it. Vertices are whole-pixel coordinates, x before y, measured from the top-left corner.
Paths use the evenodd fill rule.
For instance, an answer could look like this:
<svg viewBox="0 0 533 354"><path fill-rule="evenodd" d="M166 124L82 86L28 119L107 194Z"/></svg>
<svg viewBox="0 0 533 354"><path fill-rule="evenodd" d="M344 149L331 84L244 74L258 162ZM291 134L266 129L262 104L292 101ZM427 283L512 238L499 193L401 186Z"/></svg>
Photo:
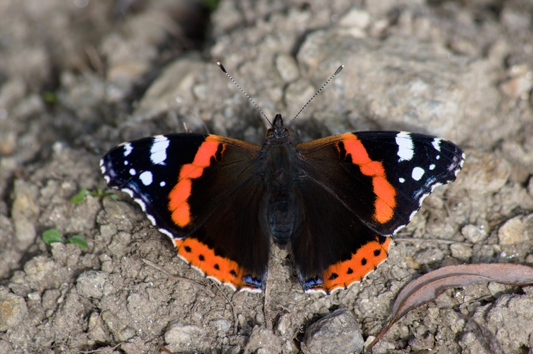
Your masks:
<svg viewBox="0 0 533 354"><path fill-rule="evenodd" d="M108 185L138 202L208 278L261 291L272 238L288 246L303 290L329 294L376 269L389 236L463 162L455 144L410 132L351 132L293 147L278 114L262 147L157 135L120 144L100 166Z"/></svg>

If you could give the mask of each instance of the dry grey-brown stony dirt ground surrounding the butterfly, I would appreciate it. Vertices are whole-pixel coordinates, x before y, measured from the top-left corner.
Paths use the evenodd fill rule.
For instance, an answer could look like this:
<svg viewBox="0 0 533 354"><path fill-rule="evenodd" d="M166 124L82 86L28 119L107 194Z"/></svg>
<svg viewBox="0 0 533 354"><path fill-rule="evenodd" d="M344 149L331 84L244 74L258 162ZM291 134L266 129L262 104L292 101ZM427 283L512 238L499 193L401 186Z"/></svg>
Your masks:
<svg viewBox="0 0 533 354"><path fill-rule="evenodd" d="M530 0L224 0L207 23L191 1L0 1L0 352L359 352L420 274L531 265L532 12ZM126 140L186 123L262 144L267 123L217 60L269 117L296 114L344 64L294 141L424 132L459 144L464 170L349 290L304 294L278 249L267 297L218 287L127 195L69 202L82 188L106 192L99 159ZM89 247L47 245L48 229ZM447 290L374 353L494 343L531 353L533 287Z"/></svg>

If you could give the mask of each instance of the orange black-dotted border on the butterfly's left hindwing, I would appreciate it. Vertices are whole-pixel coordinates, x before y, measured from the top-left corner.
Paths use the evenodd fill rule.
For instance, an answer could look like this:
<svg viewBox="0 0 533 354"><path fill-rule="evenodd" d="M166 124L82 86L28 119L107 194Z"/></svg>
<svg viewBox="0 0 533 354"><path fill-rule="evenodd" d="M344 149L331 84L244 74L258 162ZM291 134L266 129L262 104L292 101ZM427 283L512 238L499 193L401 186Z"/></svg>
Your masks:
<svg viewBox="0 0 533 354"><path fill-rule="evenodd" d="M228 258L217 256L213 249L197 239L174 239L174 245L178 256L184 258L193 267L201 270L208 277L218 279L220 282L227 283L235 287L236 290L243 287L256 289L252 285L244 282L242 277L245 271L240 266Z"/></svg>

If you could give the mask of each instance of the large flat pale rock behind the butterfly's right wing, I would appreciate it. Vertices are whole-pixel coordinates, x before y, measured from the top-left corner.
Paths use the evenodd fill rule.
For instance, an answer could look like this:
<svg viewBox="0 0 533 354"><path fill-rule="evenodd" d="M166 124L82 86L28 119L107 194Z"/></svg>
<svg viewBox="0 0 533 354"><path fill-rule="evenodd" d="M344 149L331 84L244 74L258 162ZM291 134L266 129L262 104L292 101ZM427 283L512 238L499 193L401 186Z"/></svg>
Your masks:
<svg viewBox="0 0 533 354"><path fill-rule="evenodd" d="M345 65L318 108L335 110L340 128L342 112L351 111L359 118L373 117L382 127L462 142L498 103L488 65L400 36L382 42L355 38L337 28L319 30L306 38L297 59L317 84L338 65Z"/></svg>

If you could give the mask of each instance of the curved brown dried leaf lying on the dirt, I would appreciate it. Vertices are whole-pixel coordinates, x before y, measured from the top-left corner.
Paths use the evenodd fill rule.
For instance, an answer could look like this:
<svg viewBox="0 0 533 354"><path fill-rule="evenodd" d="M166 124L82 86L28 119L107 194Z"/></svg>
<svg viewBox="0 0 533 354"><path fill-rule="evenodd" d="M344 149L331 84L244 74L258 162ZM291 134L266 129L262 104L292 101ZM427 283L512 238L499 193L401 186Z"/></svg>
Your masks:
<svg viewBox="0 0 533 354"><path fill-rule="evenodd" d="M367 350L410 310L433 301L450 287L462 287L474 282L500 282L522 285L533 282L533 267L513 263L481 263L449 265L416 278L396 297L393 304L393 318L370 343Z"/></svg>

